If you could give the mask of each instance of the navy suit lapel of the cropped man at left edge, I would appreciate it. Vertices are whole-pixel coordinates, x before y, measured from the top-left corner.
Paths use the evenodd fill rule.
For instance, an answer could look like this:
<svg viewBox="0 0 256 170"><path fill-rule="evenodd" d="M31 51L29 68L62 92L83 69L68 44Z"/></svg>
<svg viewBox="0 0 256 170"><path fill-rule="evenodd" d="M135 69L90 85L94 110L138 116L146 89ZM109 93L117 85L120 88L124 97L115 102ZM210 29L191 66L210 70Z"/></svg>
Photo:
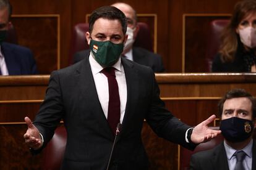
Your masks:
<svg viewBox="0 0 256 170"><path fill-rule="evenodd" d="M4 55L4 60L6 62L9 75L21 75L20 66L15 60L12 48L3 42L1 45L1 52Z"/></svg>

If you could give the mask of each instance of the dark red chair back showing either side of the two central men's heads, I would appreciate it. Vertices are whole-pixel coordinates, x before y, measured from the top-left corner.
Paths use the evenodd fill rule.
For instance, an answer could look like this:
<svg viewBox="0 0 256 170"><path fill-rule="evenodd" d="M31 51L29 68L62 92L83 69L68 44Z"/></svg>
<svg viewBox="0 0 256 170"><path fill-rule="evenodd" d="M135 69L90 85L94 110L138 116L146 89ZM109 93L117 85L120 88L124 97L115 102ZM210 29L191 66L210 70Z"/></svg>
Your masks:
<svg viewBox="0 0 256 170"><path fill-rule="evenodd" d="M137 39L134 42L134 46L143 47L149 51L153 51L153 41L151 40L150 30L147 23L138 23L140 30L137 35ZM85 39L85 33L89 30L88 23L78 23L74 26L72 33L70 51L69 51L69 63L72 64L75 52L89 49L87 41Z"/></svg>

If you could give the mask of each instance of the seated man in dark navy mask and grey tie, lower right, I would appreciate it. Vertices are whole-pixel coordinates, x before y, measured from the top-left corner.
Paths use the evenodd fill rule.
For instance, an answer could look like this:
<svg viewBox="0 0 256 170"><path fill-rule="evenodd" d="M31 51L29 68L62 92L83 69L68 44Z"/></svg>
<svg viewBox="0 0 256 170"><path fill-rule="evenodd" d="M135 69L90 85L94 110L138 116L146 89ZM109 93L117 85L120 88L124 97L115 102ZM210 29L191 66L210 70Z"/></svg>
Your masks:
<svg viewBox="0 0 256 170"><path fill-rule="evenodd" d="M256 169L256 100L244 89L233 89L218 105L224 142L192 155L190 169ZM242 159L240 160L240 156Z"/></svg>

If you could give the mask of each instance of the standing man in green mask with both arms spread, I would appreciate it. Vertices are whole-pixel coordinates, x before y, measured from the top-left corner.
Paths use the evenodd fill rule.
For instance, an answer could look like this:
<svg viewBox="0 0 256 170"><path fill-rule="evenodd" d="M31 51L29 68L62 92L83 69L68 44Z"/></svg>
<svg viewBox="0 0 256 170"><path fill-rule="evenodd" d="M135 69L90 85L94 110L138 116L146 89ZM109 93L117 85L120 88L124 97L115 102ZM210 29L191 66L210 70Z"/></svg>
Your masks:
<svg viewBox="0 0 256 170"><path fill-rule="evenodd" d="M90 57L53 71L35 121L25 118L24 138L32 152L45 147L61 119L67 130L62 169L106 169L119 122L109 169L148 168L141 139L144 119L158 136L190 149L220 134L207 127L215 115L194 129L175 118L159 97L151 68L120 57L127 41L121 10L100 7L89 25Z"/></svg>

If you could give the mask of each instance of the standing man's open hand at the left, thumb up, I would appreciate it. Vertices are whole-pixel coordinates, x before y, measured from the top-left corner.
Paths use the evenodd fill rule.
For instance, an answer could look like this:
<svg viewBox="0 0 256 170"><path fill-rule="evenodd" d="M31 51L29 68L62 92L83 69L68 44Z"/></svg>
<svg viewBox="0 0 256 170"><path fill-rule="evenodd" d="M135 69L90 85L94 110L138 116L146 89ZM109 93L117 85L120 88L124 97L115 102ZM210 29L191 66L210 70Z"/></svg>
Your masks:
<svg viewBox="0 0 256 170"><path fill-rule="evenodd" d="M30 118L25 117L25 122L28 126L27 132L23 136L25 139L25 143L28 145L28 147L33 148L33 150L38 150L43 145L40 132L33 125Z"/></svg>

